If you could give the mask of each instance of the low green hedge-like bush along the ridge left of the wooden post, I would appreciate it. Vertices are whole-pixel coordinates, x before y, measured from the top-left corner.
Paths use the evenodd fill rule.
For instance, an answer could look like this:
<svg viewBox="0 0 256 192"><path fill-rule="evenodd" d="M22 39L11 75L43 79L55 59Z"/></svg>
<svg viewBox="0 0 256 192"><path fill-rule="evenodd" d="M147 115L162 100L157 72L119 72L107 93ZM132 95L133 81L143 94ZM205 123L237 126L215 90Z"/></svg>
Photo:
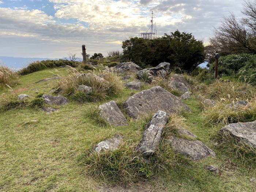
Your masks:
<svg viewBox="0 0 256 192"><path fill-rule="evenodd" d="M46 68L60 67L63 65L69 65L71 67L77 67L79 61L69 61L64 59L59 60L44 60L44 61L35 61L30 63L27 67L19 71L20 75L27 75L35 71L40 71Z"/></svg>

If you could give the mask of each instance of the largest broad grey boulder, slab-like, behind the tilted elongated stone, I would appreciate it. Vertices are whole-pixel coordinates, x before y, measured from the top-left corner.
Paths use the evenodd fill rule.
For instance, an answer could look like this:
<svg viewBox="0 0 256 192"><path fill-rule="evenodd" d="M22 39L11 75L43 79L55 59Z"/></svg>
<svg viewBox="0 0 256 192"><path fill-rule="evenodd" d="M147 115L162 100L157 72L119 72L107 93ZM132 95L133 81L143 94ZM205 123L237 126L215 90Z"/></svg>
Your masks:
<svg viewBox="0 0 256 192"><path fill-rule="evenodd" d="M158 110L176 113L184 108L188 112L191 111L178 97L159 86L134 94L123 103L123 106L132 118L137 118L143 113L156 113Z"/></svg>

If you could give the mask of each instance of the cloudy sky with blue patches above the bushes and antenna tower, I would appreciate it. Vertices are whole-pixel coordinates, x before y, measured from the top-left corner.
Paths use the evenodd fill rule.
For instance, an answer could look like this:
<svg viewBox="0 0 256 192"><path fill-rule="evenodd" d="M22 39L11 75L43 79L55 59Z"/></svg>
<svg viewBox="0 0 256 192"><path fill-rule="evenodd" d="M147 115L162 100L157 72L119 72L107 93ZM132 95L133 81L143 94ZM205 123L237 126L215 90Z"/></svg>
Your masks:
<svg viewBox="0 0 256 192"><path fill-rule="evenodd" d="M157 35L192 33L205 44L223 16L242 14L242 0L0 0L0 56L61 58L107 55L150 27Z"/></svg>

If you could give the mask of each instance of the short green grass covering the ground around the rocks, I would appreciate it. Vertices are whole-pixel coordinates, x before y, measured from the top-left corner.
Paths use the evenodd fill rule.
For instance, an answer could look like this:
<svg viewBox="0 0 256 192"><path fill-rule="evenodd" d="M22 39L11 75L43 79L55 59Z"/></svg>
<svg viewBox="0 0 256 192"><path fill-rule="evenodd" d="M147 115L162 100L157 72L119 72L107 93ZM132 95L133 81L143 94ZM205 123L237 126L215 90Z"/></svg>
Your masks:
<svg viewBox="0 0 256 192"><path fill-rule="evenodd" d="M35 89L40 93L49 93L56 86L57 80L35 82L50 78L52 72L60 76L68 74L66 69L57 70L45 69L21 76L20 84L12 89L16 93L33 97L38 95ZM151 85L143 89L149 87ZM0 90L0 94L7 92L8 89ZM104 180L88 174L84 165L86 151L114 133L124 135L124 140L138 142L148 118L138 121L128 118L128 126L114 127L99 123L96 113L92 112L97 110L98 105L110 100L115 100L120 105L131 92L138 91L124 89L120 95L95 103L70 100L67 105L56 106L59 112L51 114L31 107L0 113L1 191L98 191L97 186L103 186ZM221 124L206 124L206 118L201 115L202 108L196 99L184 102L192 109L192 113L182 114L185 128L214 150L216 158L209 157L197 162L181 161L166 170L155 167L158 171L154 171L153 176L132 185L142 185L159 192L253 192L255 184L250 182L250 178L255 177L255 166L248 167L236 154L216 147L215 136ZM38 121L25 124L25 121L34 119ZM221 174L205 170L208 165L218 165Z"/></svg>

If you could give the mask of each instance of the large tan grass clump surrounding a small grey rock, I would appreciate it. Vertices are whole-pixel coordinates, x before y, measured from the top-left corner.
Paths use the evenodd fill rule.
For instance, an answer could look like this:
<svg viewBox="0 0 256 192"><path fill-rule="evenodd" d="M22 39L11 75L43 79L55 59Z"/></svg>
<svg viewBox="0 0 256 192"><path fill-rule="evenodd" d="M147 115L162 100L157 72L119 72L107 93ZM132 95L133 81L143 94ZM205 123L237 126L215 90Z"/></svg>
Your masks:
<svg viewBox="0 0 256 192"><path fill-rule="evenodd" d="M72 73L59 81L57 92L83 102L106 99L119 94L123 89L123 85L116 74L105 70L102 71L101 76L95 74L95 71L87 74ZM92 87L92 93L81 93L78 91L79 85Z"/></svg>

